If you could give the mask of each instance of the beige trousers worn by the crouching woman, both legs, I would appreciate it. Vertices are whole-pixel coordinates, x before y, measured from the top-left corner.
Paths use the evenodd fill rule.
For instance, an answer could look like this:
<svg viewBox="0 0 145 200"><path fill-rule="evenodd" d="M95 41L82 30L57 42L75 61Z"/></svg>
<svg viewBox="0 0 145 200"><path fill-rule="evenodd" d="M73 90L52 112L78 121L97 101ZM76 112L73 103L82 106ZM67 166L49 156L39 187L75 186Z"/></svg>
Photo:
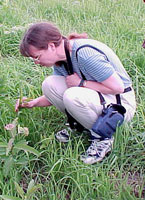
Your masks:
<svg viewBox="0 0 145 200"><path fill-rule="evenodd" d="M45 97L61 112L65 109L85 128L91 129L92 125L102 113L102 105L96 91L83 88L68 88L64 76L52 75L42 83ZM116 103L115 95L103 95L106 103ZM121 103L126 108L125 120L130 121L135 113L136 101L134 91L121 94Z"/></svg>

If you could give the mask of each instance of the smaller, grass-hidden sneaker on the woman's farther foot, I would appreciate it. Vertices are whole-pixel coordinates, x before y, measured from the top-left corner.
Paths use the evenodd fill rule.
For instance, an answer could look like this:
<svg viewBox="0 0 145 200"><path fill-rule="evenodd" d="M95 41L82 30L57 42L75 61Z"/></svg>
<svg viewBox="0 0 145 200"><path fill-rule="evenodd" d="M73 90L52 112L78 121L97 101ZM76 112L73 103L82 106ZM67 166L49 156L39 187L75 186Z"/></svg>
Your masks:
<svg viewBox="0 0 145 200"><path fill-rule="evenodd" d="M63 130L57 132L55 134L56 139L59 140L59 142L64 142L64 143L69 142L70 135L69 135L68 131L72 132L72 130L70 128L68 128L68 130L63 129Z"/></svg>

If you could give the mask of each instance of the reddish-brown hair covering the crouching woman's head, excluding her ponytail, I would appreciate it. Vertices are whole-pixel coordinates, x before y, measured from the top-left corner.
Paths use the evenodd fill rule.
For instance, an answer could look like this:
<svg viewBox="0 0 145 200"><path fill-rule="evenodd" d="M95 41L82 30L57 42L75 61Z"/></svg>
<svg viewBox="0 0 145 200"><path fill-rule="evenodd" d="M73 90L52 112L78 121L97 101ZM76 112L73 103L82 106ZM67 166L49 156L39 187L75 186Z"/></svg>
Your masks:
<svg viewBox="0 0 145 200"><path fill-rule="evenodd" d="M49 43L54 43L57 47L62 41L62 35L59 29L49 22L40 22L33 24L25 33L20 44L20 52L23 56L29 57L30 46L38 50L45 50Z"/></svg>

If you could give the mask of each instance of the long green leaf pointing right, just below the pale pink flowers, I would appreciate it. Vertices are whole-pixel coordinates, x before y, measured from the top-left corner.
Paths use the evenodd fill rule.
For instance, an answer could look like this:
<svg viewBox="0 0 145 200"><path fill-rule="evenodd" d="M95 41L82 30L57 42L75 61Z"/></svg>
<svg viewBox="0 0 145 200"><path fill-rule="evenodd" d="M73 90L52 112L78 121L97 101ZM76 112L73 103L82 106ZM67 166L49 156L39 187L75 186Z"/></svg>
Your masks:
<svg viewBox="0 0 145 200"><path fill-rule="evenodd" d="M27 151L29 153L32 153L32 154L36 155L36 156L40 156L40 153L36 149L34 149L33 147L30 147L30 146L28 146L26 144L16 144L14 146L14 149Z"/></svg>

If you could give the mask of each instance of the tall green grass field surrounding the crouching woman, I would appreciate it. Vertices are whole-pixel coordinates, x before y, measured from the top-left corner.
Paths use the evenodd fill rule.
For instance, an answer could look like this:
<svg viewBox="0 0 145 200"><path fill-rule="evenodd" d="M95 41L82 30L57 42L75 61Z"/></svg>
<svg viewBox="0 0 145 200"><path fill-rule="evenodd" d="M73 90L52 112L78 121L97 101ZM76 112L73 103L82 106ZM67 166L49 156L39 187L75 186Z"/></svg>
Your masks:
<svg viewBox="0 0 145 200"><path fill-rule="evenodd" d="M41 83L52 71L19 53L24 31L42 20L54 22L64 35L87 32L106 43L132 78L135 117L115 134L112 153L95 165L79 159L89 145L87 136L74 134L68 144L55 140L66 119L54 107L14 112L17 98L41 95ZM5 195L0 199L145 198L144 33L142 0L0 0L0 195ZM12 122L15 128L5 130Z"/></svg>

